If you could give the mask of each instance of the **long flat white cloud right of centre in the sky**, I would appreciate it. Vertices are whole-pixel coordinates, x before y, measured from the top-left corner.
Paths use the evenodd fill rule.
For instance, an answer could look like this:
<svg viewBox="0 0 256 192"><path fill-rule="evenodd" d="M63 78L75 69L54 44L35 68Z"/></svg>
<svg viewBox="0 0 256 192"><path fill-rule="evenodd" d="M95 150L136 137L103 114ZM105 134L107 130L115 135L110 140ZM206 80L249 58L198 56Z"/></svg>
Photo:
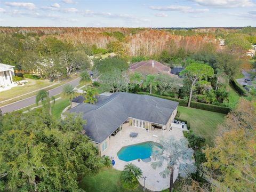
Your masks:
<svg viewBox="0 0 256 192"><path fill-rule="evenodd" d="M158 11L180 11L183 13L204 13L208 12L209 9L193 9L190 6L179 6L179 5L170 5L170 6L150 6L151 10Z"/></svg>

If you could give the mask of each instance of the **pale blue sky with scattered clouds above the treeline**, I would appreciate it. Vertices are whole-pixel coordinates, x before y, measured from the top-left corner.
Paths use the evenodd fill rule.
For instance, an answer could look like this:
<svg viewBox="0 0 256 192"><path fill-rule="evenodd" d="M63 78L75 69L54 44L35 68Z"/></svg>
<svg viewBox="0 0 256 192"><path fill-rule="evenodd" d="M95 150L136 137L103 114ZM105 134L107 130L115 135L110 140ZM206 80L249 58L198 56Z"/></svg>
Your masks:
<svg viewBox="0 0 256 192"><path fill-rule="evenodd" d="M0 26L256 26L256 0L0 0Z"/></svg>

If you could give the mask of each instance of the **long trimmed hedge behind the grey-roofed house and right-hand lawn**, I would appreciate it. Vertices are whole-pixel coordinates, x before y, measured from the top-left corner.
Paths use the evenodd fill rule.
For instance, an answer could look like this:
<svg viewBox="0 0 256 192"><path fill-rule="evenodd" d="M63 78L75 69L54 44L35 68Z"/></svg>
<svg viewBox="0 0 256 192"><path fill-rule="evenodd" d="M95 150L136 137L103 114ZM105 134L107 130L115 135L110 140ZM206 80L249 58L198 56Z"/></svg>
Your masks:
<svg viewBox="0 0 256 192"><path fill-rule="evenodd" d="M138 94L147 94L147 95L151 95L151 96L162 98L162 99L177 101L177 102L179 102L180 106L187 107L187 103L185 103L182 99L171 98L171 97L157 95L157 94L149 94L146 92L138 92ZM206 103L199 103L196 101L191 101L190 107L196 108L196 109L207 110L207 111L213 111L213 112L222 113L222 114L228 114L230 111L229 107L222 107L222 106L216 106L216 105L211 105L211 104L206 104Z"/></svg>

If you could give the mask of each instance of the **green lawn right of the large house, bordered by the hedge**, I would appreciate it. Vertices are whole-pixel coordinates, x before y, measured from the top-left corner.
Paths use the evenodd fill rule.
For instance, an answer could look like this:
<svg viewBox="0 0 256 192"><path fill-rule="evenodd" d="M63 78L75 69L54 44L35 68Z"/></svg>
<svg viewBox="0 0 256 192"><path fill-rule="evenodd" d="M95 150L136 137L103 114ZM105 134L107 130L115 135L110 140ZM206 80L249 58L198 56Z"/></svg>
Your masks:
<svg viewBox="0 0 256 192"><path fill-rule="evenodd" d="M178 107L180 119L190 123L190 130L206 139L206 143L213 145L218 124L222 123L225 114L215 113L201 109Z"/></svg>

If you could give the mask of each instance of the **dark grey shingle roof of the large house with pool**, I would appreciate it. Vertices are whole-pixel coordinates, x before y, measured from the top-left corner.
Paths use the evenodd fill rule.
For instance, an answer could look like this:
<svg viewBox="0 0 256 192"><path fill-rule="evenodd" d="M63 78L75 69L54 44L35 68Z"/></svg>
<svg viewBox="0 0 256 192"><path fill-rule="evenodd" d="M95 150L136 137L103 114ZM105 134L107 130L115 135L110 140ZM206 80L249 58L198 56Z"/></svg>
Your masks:
<svg viewBox="0 0 256 192"><path fill-rule="evenodd" d="M69 109L83 113L85 134L95 142L102 142L128 117L165 125L178 102L132 93L114 93L96 105L81 103Z"/></svg>

